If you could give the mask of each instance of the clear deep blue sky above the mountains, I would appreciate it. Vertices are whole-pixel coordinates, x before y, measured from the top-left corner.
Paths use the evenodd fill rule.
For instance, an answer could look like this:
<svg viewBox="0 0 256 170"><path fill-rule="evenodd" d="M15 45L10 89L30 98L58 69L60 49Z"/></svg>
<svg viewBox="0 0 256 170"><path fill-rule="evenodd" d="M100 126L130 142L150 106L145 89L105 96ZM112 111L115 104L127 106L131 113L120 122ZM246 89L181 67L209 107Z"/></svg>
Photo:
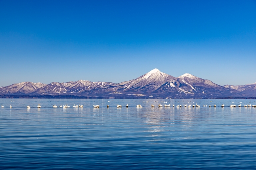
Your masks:
<svg viewBox="0 0 256 170"><path fill-rule="evenodd" d="M0 0L0 86L117 83L154 68L256 82L256 1Z"/></svg>

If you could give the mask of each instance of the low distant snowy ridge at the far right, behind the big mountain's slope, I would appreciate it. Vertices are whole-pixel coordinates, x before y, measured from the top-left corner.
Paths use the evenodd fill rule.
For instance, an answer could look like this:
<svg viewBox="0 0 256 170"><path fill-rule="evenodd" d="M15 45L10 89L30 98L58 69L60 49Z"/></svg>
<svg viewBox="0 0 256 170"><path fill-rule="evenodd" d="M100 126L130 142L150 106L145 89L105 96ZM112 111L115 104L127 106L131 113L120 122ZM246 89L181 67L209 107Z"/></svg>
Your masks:
<svg viewBox="0 0 256 170"><path fill-rule="evenodd" d="M233 85L225 85L225 88L235 89L239 92L243 92L244 94L256 96L256 82L252 84L246 84L241 86L233 86Z"/></svg>

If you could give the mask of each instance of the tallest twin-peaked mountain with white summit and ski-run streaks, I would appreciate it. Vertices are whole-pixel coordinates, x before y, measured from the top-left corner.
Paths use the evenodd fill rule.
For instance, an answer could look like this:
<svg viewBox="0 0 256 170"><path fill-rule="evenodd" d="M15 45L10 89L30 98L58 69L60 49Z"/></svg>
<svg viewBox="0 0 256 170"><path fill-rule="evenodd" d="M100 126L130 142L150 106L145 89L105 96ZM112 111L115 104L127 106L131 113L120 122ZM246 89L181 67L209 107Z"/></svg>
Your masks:
<svg viewBox="0 0 256 170"><path fill-rule="evenodd" d="M130 81L114 84L113 86L106 86L103 88L95 88L87 95L103 96L117 94L135 95L191 95L197 97L212 97L212 96L234 96L238 95L236 90L224 88L210 80L204 80L193 76L192 74L183 74L177 78L160 72L158 69L151 70L150 72ZM183 96L182 96L183 95ZM178 97L177 96L177 97Z"/></svg>

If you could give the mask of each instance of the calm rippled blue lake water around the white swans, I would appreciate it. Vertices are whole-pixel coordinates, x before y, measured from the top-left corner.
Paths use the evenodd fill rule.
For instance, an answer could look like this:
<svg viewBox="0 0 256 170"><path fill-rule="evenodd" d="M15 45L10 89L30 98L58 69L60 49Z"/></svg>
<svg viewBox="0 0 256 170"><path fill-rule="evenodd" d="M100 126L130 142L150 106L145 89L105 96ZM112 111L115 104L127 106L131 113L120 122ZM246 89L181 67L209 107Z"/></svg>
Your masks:
<svg viewBox="0 0 256 170"><path fill-rule="evenodd" d="M256 108L228 107L254 102L0 99L0 169L256 169Z"/></svg>

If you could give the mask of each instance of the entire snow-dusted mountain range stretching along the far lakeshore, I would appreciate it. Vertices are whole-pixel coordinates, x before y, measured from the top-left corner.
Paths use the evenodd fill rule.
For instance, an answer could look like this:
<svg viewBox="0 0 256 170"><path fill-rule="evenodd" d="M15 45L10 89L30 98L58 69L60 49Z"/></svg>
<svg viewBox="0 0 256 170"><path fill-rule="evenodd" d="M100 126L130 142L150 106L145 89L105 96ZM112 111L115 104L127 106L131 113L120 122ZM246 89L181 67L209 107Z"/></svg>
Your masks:
<svg viewBox="0 0 256 170"><path fill-rule="evenodd" d="M0 87L0 95L75 95L88 98L219 98L254 97L256 83L242 86L220 86L192 74L174 77L157 68L130 81L121 83L52 82L50 84L21 82Z"/></svg>

